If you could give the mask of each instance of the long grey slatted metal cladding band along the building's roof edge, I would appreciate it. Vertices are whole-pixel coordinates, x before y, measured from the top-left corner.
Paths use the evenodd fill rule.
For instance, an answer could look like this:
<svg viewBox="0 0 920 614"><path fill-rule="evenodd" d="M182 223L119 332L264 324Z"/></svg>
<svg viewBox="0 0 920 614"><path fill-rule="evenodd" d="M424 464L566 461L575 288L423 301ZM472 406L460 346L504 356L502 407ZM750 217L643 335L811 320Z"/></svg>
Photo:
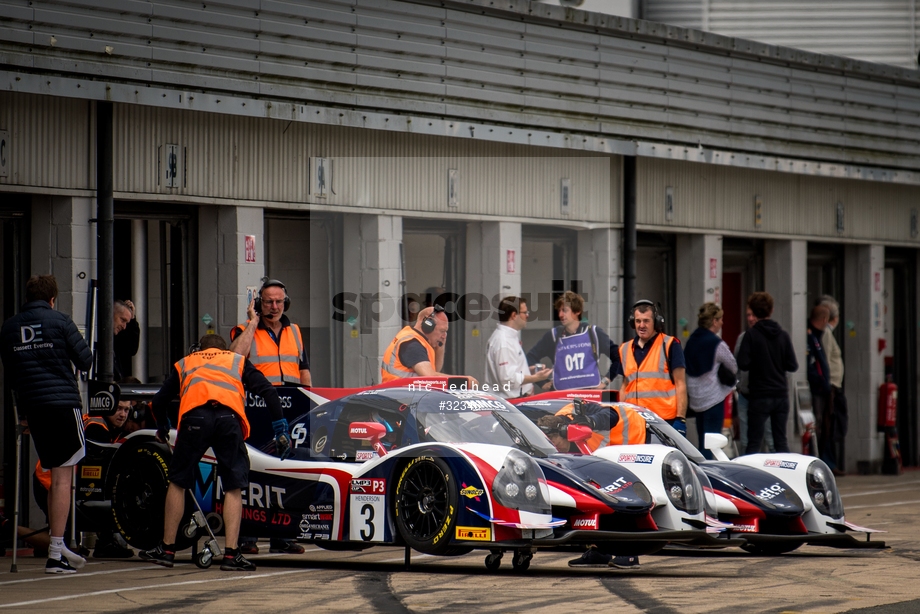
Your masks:
<svg viewBox="0 0 920 614"><path fill-rule="evenodd" d="M0 89L47 71L94 80L51 95L235 115L267 97L918 168L915 72L523 0L434 4L0 0Z"/></svg>

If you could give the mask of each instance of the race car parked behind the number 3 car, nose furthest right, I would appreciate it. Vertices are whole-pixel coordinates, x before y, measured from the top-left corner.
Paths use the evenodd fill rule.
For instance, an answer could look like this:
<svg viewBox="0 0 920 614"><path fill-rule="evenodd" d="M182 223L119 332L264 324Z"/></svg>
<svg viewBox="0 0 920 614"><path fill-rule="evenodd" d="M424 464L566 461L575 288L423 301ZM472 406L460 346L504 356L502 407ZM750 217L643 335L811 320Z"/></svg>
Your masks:
<svg viewBox="0 0 920 614"><path fill-rule="evenodd" d="M573 399L601 402L596 391L551 392L516 401L516 406L532 421L555 414ZM615 412L613 403L604 403ZM714 508L725 530L723 539L743 537L744 550L763 555L791 552L803 544L834 548L884 548L877 540L858 540L850 532L884 532L849 523L834 476L818 458L802 454L751 454L729 460L722 452L726 444L721 434L707 435L707 447L718 460L706 460L693 444L656 414L636 405L646 421L650 442L680 450L683 456L706 475L709 507ZM599 426L602 432L604 426ZM606 429L609 431L609 420ZM622 462L641 453L644 446L606 446L594 454ZM641 472L640 478L645 479Z"/></svg>

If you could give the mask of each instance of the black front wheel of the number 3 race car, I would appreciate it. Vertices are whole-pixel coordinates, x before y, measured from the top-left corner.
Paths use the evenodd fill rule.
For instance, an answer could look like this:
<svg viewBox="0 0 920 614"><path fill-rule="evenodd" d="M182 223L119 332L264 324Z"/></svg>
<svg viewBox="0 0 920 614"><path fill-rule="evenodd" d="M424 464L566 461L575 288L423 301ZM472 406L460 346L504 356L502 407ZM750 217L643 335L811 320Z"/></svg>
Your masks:
<svg viewBox="0 0 920 614"><path fill-rule="evenodd" d="M408 546L425 554L450 550L457 523L457 486L443 459L414 458L396 483L396 527Z"/></svg>

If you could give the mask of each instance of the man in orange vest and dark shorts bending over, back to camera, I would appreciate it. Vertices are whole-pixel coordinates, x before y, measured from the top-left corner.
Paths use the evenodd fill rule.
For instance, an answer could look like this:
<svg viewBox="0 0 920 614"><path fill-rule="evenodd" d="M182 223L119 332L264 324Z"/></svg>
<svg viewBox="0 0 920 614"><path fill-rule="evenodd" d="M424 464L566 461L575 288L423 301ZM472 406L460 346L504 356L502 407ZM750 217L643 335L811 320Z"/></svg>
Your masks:
<svg viewBox="0 0 920 614"><path fill-rule="evenodd" d="M281 399L269 381L251 362L227 349L220 335L201 338L200 350L175 364L153 397L157 441L169 438L170 402L180 396L176 445L169 465L169 490L163 521L163 541L140 553L145 561L172 567L176 556L176 533L185 510L185 491L195 485L198 462L211 448L217 458L217 475L224 489L223 518L226 532L224 571L254 571L256 566L237 548L243 511L242 489L249 485L249 454L243 441L249 436L244 399L246 389L265 400L275 431L275 450L283 459L290 450L287 420Z"/></svg>

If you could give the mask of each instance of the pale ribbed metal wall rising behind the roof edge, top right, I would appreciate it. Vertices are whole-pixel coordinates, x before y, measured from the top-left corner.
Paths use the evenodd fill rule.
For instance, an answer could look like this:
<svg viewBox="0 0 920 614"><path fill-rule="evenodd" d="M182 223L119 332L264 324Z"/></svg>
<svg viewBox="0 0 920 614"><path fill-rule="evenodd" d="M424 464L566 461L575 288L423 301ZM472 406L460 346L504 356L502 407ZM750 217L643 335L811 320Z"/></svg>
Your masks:
<svg viewBox="0 0 920 614"><path fill-rule="evenodd" d="M916 0L643 0L645 18L816 53L917 67Z"/></svg>

